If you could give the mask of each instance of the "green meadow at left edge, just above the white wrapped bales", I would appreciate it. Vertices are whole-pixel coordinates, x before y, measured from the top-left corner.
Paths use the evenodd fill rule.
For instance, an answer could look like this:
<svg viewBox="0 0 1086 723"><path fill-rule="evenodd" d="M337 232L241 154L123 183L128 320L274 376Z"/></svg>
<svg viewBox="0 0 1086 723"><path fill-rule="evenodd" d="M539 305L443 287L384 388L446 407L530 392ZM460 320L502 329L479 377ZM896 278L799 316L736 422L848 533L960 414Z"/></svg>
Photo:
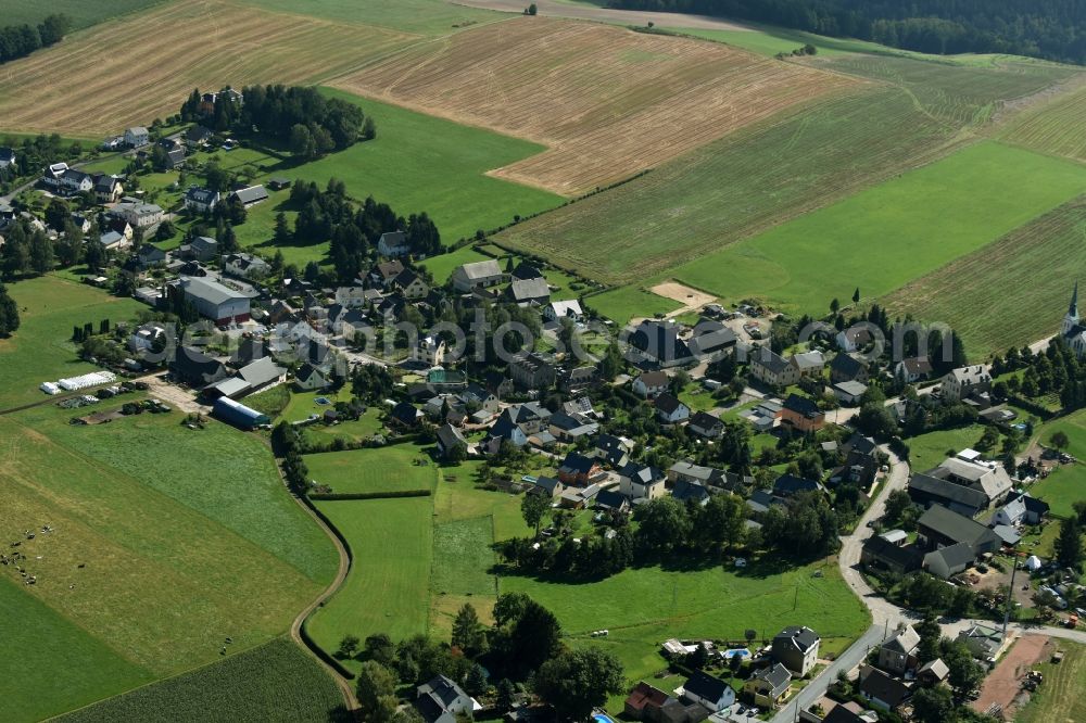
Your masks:
<svg viewBox="0 0 1086 723"><path fill-rule="evenodd" d="M131 299L117 299L100 289L53 276L18 281L8 287L18 304L21 326L0 339L0 409L40 402L43 381L96 371L79 362L71 343L72 327L102 319L127 321L147 308Z"/></svg>

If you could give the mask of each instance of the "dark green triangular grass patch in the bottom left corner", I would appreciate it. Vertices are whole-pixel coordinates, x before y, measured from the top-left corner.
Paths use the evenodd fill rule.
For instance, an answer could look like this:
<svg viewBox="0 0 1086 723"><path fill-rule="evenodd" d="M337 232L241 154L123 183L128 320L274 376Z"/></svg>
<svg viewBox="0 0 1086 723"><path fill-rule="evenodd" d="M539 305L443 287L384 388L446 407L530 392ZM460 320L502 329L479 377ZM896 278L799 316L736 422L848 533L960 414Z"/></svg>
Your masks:
<svg viewBox="0 0 1086 723"><path fill-rule="evenodd" d="M0 576L0 700L4 720L38 721L154 680L24 585ZM58 661L64 674L58 675Z"/></svg>

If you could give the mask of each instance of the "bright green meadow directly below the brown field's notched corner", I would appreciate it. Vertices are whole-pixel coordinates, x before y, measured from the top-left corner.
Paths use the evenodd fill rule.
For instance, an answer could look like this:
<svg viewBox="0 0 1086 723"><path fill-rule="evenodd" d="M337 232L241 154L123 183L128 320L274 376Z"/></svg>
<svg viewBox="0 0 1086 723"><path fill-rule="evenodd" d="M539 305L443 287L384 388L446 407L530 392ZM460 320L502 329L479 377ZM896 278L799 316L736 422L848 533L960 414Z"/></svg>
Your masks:
<svg viewBox="0 0 1086 723"><path fill-rule="evenodd" d="M554 193L487 175L539 153L544 150L541 145L331 88L321 92L361 105L377 123L377 138L311 163L276 166L268 177L315 181L321 188L329 178L338 178L346 185L348 194L359 201L372 195L405 218L426 212L445 244L475 236L479 229L510 224L515 215L538 214L564 202ZM266 180L260 176L255 182ZM237 228L238 242L274 253L270 238L279 211L296 211L290 207L287 192L250 210ZM318 243L288 245L282 252L288 263L302 263L321 259L327 250L327 243Z"/></svg>

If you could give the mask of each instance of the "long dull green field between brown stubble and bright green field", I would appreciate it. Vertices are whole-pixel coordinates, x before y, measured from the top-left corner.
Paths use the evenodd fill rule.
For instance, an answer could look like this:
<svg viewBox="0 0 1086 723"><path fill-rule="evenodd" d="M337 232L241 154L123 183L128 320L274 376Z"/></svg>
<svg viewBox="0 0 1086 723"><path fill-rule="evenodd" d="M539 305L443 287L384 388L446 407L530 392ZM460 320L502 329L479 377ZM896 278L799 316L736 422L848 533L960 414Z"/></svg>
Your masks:
<svg viewBox="0 0 1086 723"><path fill-rule="evenodd" d="M601 281L644 283L938 157L955 140L904 90L867 88L741 130L496 240Z"/></svg>

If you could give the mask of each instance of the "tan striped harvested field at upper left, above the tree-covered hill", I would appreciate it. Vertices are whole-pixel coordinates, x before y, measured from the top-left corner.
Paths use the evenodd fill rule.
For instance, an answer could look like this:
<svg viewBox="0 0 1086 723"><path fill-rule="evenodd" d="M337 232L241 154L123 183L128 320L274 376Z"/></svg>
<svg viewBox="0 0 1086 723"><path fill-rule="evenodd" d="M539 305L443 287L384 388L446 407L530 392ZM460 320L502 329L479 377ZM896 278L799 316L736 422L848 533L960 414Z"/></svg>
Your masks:
<svg viewBox="0 0 1086 723"><path fill-rule="evenodd" d="M118 132L177 112L192 90L308 83L415 36L186 0L102 23L0 67L4 130Z"/></svg>

